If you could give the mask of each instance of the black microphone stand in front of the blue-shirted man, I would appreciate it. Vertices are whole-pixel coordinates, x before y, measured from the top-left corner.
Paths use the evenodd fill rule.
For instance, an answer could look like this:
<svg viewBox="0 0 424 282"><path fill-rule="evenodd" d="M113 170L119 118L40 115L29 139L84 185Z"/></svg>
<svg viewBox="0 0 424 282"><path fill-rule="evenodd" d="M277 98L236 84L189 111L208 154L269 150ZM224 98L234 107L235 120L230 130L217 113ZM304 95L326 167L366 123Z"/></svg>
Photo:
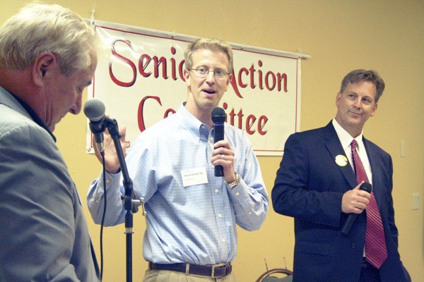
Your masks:
<svg viewBox="0 0 424 282"><path fill-rule="evenodd" d="M126 210L125 214L125 234L126 234L126 282L132 281L132 231L133 228L133 214L139 211L141 206L143 216L146 216L146 210L144 209L144 198L141 197L139 200L134 199L133 183L129 177L128 170L126 169L126 162L124 152L122 152L121 142L119 139L118 123L116 120L105 118L106 127L109 130L110 136L114 142L115 149L117 151L119 164L121 165L122 176L124 177L123 184L125 188L125 195L122 196L124 201L124 207Z"/></svg>

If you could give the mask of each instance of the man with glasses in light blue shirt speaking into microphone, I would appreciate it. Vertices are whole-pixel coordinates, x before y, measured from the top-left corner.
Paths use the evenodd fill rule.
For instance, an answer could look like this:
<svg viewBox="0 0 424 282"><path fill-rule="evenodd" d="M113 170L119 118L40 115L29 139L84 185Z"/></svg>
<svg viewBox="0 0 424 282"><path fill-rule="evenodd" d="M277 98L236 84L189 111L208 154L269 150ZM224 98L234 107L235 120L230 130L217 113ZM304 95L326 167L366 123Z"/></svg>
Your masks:
<svg viewBox="0 0 424 282"><path fill-rule="evenodd" d="M143 256L149 269L143 281L235 281L230 263L237 255L236 225L257 230L269 198L242 130L225 123L225 140L213 144L211 112L230 85L230 45L201 38L189 44L184 56L187 102L143 131L126 156L135 196L146 200ZM124 145L125 130L121 133ZM126 210L119 161L108 136L105 157L105 225L113 226L124 222ZM223 177L214 176L218 165ZM96 223L103 213L102 176L88 192Z"/></svg>

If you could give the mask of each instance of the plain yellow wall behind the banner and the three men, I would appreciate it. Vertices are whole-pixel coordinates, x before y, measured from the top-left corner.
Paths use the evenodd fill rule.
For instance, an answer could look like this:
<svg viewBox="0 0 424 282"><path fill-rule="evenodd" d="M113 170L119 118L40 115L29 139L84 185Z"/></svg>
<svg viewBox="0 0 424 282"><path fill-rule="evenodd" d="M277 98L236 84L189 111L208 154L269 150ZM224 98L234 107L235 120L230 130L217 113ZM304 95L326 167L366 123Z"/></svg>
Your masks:
<svg viewBox="0 0 424 282"><path fill-rule="evenodd" d="M27 0L1 0L0 22ZM382 75L386 90L376 116L365 125L365 136L391 154L394 161L394 207L399 228L399 252L413 281L424 277L424 2L288 1L288 0L48 0L85 18L95 6L95 18L196 37L220 37L229 42L303 52L301 130L326 125L336 113L334 101L343 76L355 68ZM95 157L85 153L86 119L68 116L55 135L86 207L88 185L100 172ZM400 142L406 157L400 157ZM269 193L280 157L259 157ZM420 194L420 209L412 210L412 194ZM270 207L259 231L239 232L234 263L237 281L254 281L269 268L293 267L293 219ZM98 255L99 226L86 209ZM134 216L134 281L141 281L146 263L141 255L145 228ZM104 281L125 279L124 226L105 228Z"/></svg>

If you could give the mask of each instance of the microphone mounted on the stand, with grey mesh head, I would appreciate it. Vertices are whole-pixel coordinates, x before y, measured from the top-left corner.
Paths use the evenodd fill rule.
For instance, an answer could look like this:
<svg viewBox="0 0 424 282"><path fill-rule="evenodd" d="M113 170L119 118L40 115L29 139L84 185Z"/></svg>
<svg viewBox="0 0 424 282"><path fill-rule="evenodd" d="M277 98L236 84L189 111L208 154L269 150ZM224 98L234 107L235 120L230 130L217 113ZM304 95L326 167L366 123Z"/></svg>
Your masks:
<svg viewBox="0 0 424 282"><path fill-rule="evenodd" d="M84 114L90 120L90 130L94 135L95 142L100 152L105 151L105 145L103 144L103 132L106 129L105 126L105 104L100 99L89 99L84 104Z"/></svg>

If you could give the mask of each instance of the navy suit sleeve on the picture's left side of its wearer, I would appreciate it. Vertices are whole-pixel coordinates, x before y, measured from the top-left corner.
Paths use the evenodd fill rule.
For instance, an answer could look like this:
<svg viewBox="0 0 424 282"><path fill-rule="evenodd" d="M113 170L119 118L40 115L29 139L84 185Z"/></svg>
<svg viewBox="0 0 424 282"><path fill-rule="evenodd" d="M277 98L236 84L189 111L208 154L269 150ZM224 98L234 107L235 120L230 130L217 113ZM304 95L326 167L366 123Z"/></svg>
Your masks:
<svg viewBox="0 0 424 282"><path fill-rule="evenodd" d="M335 192L331 187L334 183L331 183L329 168L318 164L325 161L316 156L317 148L307 149L307 146L298 133L290 135L285 142L271 192L273 209L278 214L338 227L343 192Z"/></svg>

